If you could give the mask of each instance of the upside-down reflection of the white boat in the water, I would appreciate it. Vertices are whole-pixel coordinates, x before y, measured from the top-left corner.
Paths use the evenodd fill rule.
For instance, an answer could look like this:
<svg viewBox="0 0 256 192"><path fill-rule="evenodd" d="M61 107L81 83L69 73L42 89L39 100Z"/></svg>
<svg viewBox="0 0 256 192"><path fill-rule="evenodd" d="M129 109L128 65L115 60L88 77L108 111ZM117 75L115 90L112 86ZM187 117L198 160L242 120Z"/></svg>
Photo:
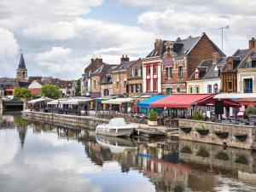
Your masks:
<svg viewBox="0 0 256 192"><path fill-rule="evenodd" d="M123 153L125 149L132 149L136 147L131 138L96 135L96 142L102 145L102 147L109 148L113 154Z"/></svg>

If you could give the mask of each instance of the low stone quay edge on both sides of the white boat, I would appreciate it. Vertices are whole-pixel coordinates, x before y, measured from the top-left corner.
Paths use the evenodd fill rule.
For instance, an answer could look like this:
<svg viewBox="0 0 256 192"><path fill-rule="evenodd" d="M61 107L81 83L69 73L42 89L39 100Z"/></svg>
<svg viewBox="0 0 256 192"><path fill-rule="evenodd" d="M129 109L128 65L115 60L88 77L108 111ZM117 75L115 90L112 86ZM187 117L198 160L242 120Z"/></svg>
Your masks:
<svg viewBox="0 0 256 192"><path fill-rule="evenodd" d="M43 121L55 125L70 125L79 128L95 130L96 125L108 123L109 119L100 119L94 116L77 116L57 113L42 113L33 111L23 111L22 117L29 120ZM178 128L168 128L166 126L149 126L146 124L137 124L137 131L142 136L167 136L178 137Z"/></svg>

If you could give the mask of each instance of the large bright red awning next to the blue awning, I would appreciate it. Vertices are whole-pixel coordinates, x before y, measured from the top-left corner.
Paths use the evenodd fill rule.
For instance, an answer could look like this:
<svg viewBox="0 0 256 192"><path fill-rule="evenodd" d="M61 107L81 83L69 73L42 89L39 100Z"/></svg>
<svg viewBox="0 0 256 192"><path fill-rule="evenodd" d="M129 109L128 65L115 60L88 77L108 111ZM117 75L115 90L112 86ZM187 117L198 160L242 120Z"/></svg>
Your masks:
<svg viewBox="0 0 256 192"><path fill-rule="evenodd" d="M190 108L191 105L203 102L212 98L214 94L172 94L156 102L151 102L149 106L154 108Z"/></svg>

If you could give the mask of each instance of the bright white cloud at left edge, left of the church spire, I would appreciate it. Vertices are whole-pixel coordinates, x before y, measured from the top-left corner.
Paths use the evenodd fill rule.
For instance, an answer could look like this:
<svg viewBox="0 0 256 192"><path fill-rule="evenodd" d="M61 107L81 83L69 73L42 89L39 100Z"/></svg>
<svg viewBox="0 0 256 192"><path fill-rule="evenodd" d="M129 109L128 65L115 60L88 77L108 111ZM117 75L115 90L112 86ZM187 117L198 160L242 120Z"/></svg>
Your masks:
<svg viewBox="0 0 256 192"><path fill-rule="evenodd" d="M12 32L0 27L0 42L0 61L17 55L19 45Z"/></svg>

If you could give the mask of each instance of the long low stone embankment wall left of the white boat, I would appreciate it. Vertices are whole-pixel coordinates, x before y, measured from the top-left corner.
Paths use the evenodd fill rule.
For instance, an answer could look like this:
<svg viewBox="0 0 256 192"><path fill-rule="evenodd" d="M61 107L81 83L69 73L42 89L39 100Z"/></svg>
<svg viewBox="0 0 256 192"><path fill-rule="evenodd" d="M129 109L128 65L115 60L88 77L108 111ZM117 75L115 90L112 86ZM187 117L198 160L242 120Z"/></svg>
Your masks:
<svg viewBox="0 0 256 192"><path fill-rule="evenodd" d="M91 116L74 116L67 114L56 113L41 113L23 111L22 116L26 119L44 121L56 125L72 125L80 128L95 129L96 125L101 123L108 123L108 119L98 119Z"/></svg>

